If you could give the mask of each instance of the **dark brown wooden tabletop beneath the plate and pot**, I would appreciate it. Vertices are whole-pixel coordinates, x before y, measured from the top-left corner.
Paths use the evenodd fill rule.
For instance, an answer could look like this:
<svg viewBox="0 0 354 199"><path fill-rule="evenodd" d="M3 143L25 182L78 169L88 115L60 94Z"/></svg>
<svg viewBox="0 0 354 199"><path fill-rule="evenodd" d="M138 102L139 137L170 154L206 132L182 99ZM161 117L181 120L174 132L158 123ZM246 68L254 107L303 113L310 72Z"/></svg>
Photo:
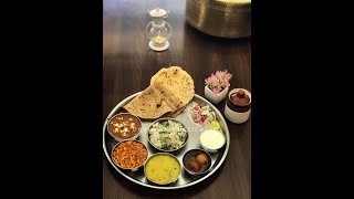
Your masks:
<svg viewBox="0 0 354 199"><path fill-rule="evenodd" d="M167 51L148 48L145 27L152 20L147 10L169 10L166 19L174 34ZM251 91L251 40L206 35L185 20L185 0L103 1L103 115L127 96L143 91L162 67L179 65L195 81L196 94L204 95L204 80L217 70L233 74L231 87ZM217 105L223 113L225 102ZM102 123L102 124L103 124ZM228 122L230 148L221 167L200 184L177 190L156 190L121 176L103 155L103 198L251 198L251 119ZM102 153L104 153L102 150Z"/></svg>

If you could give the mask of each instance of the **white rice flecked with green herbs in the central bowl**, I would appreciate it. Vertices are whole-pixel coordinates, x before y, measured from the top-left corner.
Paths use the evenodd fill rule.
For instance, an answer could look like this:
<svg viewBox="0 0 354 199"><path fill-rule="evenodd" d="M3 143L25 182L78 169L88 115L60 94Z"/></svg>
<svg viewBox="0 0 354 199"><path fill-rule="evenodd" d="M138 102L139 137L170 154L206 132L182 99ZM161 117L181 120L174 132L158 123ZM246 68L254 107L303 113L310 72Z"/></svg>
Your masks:
<svg viewBox="0 0 354 199"><path fill-rule="evenodd" d="M174 150L180 148L187 139L187 129L178 122L158 121L149 129L150 143L159 149Z"/></svg>

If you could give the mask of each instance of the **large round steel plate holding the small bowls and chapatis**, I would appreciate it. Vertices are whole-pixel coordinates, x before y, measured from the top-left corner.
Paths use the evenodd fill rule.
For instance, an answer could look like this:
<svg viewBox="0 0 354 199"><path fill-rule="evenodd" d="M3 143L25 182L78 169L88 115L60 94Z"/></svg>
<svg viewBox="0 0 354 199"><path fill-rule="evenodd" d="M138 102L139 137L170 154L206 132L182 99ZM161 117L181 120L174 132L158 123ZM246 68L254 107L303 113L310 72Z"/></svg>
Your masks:
<svg viewBox="0 0 354 199"><path fill-rule="evenodd" d="M107 116L107 118L105 119L105 123L103 125L103 150L106 155L107 160L111 163L112 167L114 167L116 171L118 171L122 176L124 176L128 180L131 180L137 185L148 187L148 188L154 188L154 189L180 189L180 188L196 185L196 184L207 179L209 176L211 176L221 166L225 158L227 157L229 146L230 146L230 134L229 134L229 128L227 126L227 123L226 123L223 116L221 115L221 113L219 112L219 109L216 108L207 100L205 100L204 97L201 97L197 94L195 94L194 98L190 101L190 103L187 105L187 107L177 117L175 117L175 119L183 123L188 130L187 144L183 148L180 148L176 151L171 151L170 154L175 155L178 158L179 163L183 165L183 157L188 150L195 149L195 148L199 148L199 149L201 148L200 142L199 142L199 136L205 129L202 129L200 126L194 124L190 121L188 109L191 107L191 105L194 103L204 102L204 103L208 104L212 111L215 111L217 121L220 123L220 127L221 127L222 133L225 134L226 140L227 140L226 145L223 145L223 147L221 149L219 149L217 153L210 153L211 168L209 169L208 172L206 172L204 175L199 175L199 176L192 176L192 175L188 174L183 168L179 178L174 184L170 184L168 186L159 186L159 185L153 184L147 180L146 176L144 175L144 169L139 169L137 171L129 171L129 170L121 169L117 166L115 166L115 164L111 159L111 151L112 151L112 148L117 144L117 140L115 140L108 134L107 124L108 124L108 121L112 116L124 112L123 106L125 104L127 104L129 101L132 101L139 93L131 95L127 98L123 100L121 103L118 103L111 111L110 115ZM147 158L149 158L154 154L162 153L160 150L153 147L148 142L148 128L156 119L155 121L140 119L140 121L142 121L142 132L140 132L139 136L137 137L137 140L142 142L147 147L147 150L148 150Z"/></svg>

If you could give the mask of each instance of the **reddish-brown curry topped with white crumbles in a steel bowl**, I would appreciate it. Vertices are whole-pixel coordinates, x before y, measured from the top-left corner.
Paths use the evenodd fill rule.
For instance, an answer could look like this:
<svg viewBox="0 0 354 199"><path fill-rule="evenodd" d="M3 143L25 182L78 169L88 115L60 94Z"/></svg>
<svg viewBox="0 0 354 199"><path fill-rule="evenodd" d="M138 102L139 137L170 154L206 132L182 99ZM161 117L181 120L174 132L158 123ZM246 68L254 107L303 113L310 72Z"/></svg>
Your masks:
<svg viewBox="0 0 354 199"><path fill-rule="evenodd" d="M107 125L110 135L117 140L136 139L140 128L140 119L129 113L114 115Z"/></svg>

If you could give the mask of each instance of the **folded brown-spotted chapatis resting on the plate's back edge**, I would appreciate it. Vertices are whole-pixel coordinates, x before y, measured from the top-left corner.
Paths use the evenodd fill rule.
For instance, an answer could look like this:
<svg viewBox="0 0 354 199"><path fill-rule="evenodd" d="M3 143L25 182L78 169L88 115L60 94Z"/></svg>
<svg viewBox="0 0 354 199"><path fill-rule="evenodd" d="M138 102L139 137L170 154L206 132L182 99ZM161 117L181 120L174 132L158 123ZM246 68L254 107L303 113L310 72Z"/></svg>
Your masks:
<svg viewBox="0 0 354 199"><path fill-rule="evenodd" d="M176 117L194 95L195 84L186 71L179 66L164 67L152 77L150 85L124 108L146 119Z"/></svg>

